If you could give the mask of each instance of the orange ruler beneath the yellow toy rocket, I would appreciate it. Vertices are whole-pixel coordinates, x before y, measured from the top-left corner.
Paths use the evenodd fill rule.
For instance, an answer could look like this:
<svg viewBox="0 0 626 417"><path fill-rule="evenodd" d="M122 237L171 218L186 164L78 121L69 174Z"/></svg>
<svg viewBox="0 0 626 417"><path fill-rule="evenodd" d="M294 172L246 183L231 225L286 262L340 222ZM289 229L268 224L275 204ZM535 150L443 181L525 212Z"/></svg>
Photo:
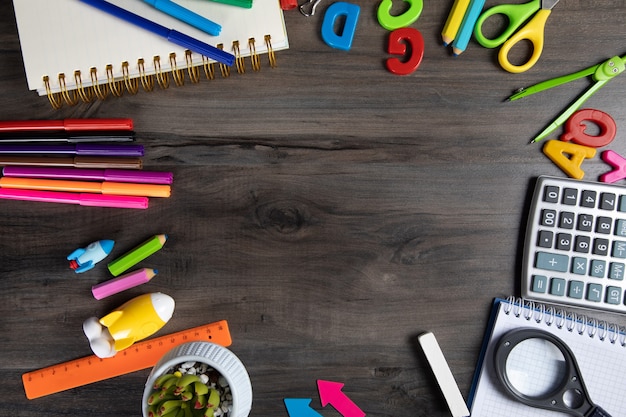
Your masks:
<svg viewBox="0 0 626 417"><path fill-rule="evenodd" d="M43 397L156 365L170 349L187 342L230 346L226 320L194 327L154 339L142 340L111 358L95 355L75 359L22 375L28 399Z"/></svg>

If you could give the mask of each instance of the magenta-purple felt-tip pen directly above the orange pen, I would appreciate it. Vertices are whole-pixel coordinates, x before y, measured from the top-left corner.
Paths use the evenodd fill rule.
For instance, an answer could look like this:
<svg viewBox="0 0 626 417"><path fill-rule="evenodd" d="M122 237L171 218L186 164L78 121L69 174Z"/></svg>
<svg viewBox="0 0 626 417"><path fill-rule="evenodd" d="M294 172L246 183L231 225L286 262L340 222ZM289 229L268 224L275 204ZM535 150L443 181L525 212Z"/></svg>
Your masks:
<svg viewBox="0 0 626 417"><path fill-rule="evenodd" d="M146 184L171 184L171 172L130 169L53 168L35 166L5 166L6 177L49 178L82 181L138 182Z"/></svg>

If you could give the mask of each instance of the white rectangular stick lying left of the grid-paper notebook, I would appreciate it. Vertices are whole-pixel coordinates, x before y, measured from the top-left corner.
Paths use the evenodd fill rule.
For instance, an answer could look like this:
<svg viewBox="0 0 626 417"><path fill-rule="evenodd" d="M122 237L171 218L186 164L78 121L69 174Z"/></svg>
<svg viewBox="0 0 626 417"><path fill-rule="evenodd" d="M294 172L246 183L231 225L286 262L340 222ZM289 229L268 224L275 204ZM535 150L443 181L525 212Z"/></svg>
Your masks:
<svg viewBox="0 0 626 417"><path fill-rule="evenodd" d="M459 386L454 380L452 371L450 371L448 362L446 362L446 358L443 356L443 352L439 347L439 343L437 343L437 339L435 339L435 335L428 332L420 335L417 339L424 350L426 360L428 360L428 363L435 374L437 383L441 388L441 392L443 392L443 396L448 403L448 408L450 408L452 416L469 416L470 412L467 409L467 404L461 395Z"/></svg>

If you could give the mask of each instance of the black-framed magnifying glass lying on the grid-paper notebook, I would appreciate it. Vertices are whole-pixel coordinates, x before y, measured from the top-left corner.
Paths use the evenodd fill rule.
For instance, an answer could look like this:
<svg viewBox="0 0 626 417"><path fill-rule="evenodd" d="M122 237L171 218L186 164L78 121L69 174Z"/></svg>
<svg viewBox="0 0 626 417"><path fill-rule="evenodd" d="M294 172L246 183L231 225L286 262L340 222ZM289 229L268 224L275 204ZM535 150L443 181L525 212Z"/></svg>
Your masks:
<svg viewBox="0 0 626 417"><path fill-rule="evenodd" d="M574 354L551 333L512 330L498 341L494 359L500 382L526 405L579 417L611 417L593 404Z"/></svg>

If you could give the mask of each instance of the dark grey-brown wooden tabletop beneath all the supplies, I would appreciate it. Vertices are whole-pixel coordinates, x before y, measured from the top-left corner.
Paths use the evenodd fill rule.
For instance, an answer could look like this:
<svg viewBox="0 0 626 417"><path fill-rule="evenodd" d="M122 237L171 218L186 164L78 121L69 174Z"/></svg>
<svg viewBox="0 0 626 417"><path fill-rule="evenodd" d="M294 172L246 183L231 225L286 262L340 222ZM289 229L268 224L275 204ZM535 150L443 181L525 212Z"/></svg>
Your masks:
<svg viewBox="0 0 626 417"><path fill-rule="evenodd" d="M140 415L148 369L35 400L21 375L91 354L86 318L161 291L176 310L157 335L228 321L251 416L287 416L285 398L339 416L321 406L319 379L344 383L368 416L449 415L416 336L436 335L467 397L493 298L520 292L531 186L566 176L528 142L590 82L504 99L623 55L626 6L562 1L540 61L510 74L474 40L453 57L440 37L452 1L425 3L412 25L424 59L408 76L385 69L378 2L359 2L346 52L321 39L322 1L312 17L285 13L290 48L275 69L264 60L258 73L53 110L27 88L2 2L0 118L130 117L145 169L173 172L174 184L145 211L0 201L0 414ZM625 96L617 77L585 105L615 119L607 149L623 155ZM596 156L583 169L597 180L610 167ZM169 241L142 264L159 270L142 287L96 301L106 268L68 268L90 242L113 239L121 254L157 233Z"/></svg>

